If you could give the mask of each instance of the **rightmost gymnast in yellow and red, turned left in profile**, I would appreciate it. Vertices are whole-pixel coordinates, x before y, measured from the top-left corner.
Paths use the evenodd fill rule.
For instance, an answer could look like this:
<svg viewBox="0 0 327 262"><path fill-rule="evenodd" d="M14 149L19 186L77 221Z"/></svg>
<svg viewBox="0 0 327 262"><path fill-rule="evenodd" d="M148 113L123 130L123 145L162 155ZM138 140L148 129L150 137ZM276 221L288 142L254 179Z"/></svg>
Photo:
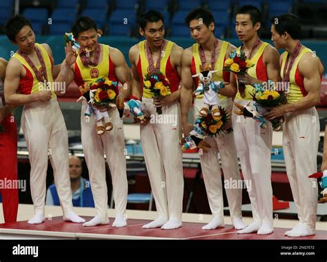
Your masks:
<svg viewBox="0 0 327 262"><path fill-rule="evenodd" d="M278 23L275 23L278 21ZM299 223L286 236L315 234L317 219L317 181L308 176L317 172L319 116L315 105L320 101L324 66L317 55L299 41L301 25L293 14L281 14L272 19L272 40L281 54L281 78L288 83L286 105L266 114L273 120L285 115L283 148L286 172Z"/></svg>

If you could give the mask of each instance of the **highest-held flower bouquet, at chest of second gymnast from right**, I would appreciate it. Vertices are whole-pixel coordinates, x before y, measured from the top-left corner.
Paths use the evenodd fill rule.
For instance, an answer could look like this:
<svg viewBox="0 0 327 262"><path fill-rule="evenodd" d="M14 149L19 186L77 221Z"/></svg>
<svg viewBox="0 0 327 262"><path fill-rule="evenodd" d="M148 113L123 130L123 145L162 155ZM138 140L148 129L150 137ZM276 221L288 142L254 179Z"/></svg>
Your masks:
<svg viewBox="0 0 327 262"><path fill-rule="evenodd" d="M234 50L230 53L229 59L225 61L223 71L233 72L237 78L237 75L246 74L252 66L255 66L255 64L246 57L243 50ZM241 97L244 97L245 84L237 81L237 88Z"/></svg>

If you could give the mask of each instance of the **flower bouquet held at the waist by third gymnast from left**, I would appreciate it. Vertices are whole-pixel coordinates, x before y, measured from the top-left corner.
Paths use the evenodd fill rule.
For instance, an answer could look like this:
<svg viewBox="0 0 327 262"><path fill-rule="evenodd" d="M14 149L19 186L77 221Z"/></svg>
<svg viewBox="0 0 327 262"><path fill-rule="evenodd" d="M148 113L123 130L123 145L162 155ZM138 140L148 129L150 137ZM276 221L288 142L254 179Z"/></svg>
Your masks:
<svg viewBox="0 0 327 262"><path fill-rule="evenodd" d="M155 94L156 99L159 99L160 97L166 97L166 95L171 94L170 83L162 72L157 74L146 74L146 77L143 81L143 88L146 88ZM161 108L157 108L157 113L162 114Z"/></svg>

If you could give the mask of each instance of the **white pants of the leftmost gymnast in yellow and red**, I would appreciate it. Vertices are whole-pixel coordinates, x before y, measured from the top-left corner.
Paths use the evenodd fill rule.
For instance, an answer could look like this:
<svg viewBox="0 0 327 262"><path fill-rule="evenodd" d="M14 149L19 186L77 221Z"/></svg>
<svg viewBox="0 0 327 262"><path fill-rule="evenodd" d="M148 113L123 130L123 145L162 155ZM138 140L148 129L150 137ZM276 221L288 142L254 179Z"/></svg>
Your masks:
<svg viewBox="0 0 327 262"><path fill-rule="evenodd" d="M67 214L72 210L68 134L57 99L25 105L21 116L21 128L30 158L30 190L34 212L44 215L49 157L61 208L63 214Z"/></svg>

